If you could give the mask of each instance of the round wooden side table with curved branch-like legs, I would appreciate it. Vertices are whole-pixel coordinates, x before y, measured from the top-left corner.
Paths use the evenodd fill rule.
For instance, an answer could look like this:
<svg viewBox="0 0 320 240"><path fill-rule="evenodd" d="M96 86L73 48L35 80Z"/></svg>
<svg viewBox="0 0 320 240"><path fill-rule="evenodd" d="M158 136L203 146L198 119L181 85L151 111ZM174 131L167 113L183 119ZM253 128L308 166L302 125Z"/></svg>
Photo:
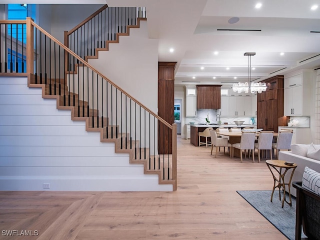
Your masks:
<svg viewBox="0 0 320 240"><path fill-rule="evenodd" d="M290 206L292 205L292 203L291 203L291 193L290 193L290 184L291 184L291 179L292 179L294 170L295 170L295 168L297 166L296 163L285 164L285 162L286 161L284 161L284 160L266 160L265 161L265 163L268 166L268 168L269 168L269 170L270 170L270 172L272 174L272 177L273 177L273 188L272 188L270 201L272 201L273 192L274 192L274 189L276 187L279 188L279 200L281 200L280 190L281 190L281 187L282 187L283 188L282 208L283 208L283 205L284 205L284 201L286 203L288 203ZM271 168L273 168L278 173L278 176L274 175L275 172L272 171ZM282 173L282 168L284 168L284 172L283 173ZM289 182L284 182L284 175L289 169L292 169L291 175L290 175L290 178L289 178ZM288 188L289 201L287 201L285 199L285 185L287 185L287 188Z"/></svg>

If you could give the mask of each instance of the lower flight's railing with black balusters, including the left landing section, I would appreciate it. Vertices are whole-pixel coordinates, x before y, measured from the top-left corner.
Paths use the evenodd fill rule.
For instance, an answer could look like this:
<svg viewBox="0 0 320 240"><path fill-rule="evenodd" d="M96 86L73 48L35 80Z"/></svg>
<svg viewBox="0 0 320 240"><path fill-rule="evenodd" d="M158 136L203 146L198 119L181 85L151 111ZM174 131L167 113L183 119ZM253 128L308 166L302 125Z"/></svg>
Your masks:
<svg viewBox="0 0 320 240"><path fill-rule="evenodd" d="M8 29L16 24L21 25L21 30L17 29L19 33L8 34ZM0 20L0 31L0 72L8 72L8 66L12 73L24 72L19 69L26 63L26 73L32 74L33 83L45 84L46 94L58 95L59 104L72 108L77 119L89 119L89 128L102 128L101 138L114 139L120 149L132 149L137 160L147 159L146 170L161 168L161 183L173 181L173 190L176 190L176 124L167 123L31 18ZM10 42L11 46L11 41L16 45L10 47L14 50L8 53L7 44ZM23 60L8 64L8 55L11 59L13 55L22 56ZM67 59L72 71L65 69ZM14 71L13 65L17 66ZM165 135L172 138L161 138L162 132L170 133ZM168 151L171 147L172 153Z"/></svg>

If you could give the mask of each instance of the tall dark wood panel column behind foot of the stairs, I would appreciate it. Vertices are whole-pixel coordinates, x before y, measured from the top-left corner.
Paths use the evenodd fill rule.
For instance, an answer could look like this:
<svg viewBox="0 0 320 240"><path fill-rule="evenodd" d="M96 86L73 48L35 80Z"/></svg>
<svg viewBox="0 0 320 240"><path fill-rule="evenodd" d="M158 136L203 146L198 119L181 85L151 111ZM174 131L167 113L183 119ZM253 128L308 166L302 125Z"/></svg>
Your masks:
<svg viewBox="0 0 320 240"><path fill-rule="evenodd" d="M176 62L158 62L158 115L174 123L174 67ZM158 122L158 153L172 153L172 131Z"/></svg>

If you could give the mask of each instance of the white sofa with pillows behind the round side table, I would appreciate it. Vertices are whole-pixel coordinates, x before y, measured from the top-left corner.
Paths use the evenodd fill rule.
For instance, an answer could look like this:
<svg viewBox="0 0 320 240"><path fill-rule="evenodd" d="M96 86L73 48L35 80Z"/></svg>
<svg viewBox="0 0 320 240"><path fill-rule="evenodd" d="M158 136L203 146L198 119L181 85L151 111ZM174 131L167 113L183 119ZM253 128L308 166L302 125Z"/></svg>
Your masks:
<svg viewBox="0 0 320 240"><path fill-rule="evenodd" d="M279 151L278 159L296 163L297 167L295 168L291 183L293 181L302 181L305 166L320 172L320 145L313 143L291 144L291 151ZM284 176L284 181L288 182L289 177L290 172L288 171ZM290 191L293 196L296 196L296 190L292 185L290 186Z"/></svg>

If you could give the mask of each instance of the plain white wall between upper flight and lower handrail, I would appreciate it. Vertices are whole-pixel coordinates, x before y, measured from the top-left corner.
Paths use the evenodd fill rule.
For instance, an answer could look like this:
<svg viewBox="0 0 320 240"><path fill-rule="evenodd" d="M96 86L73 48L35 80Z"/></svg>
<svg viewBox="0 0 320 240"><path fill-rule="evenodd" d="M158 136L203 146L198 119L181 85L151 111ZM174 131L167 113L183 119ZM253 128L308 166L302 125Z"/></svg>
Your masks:
<svg viewBox="0 0 320 240"><path fill-rule="evenodd" d="M88 63L157 113L158 40L148 38L146 21Z"/></svg>

